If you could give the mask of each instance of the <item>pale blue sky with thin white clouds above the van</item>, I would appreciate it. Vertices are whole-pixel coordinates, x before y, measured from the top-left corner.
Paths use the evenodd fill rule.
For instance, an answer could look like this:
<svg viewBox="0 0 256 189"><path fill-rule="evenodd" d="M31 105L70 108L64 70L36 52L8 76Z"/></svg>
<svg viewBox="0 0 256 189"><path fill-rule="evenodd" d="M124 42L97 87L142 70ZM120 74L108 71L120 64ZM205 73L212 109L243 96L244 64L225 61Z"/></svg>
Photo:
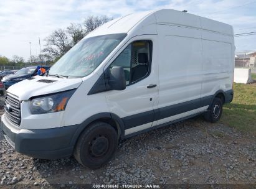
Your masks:
<svg viewBox="0 0 256 189"><path fill-rule="evenodd" d="M39 55L44 39L71 22L82 24L87 16L120 17L153 9L186 9L191 14L224 22L234 33L256 31L254 0L0 0L0 55ZM256 35L235 37L237 51L256 50Z"/></svg>

